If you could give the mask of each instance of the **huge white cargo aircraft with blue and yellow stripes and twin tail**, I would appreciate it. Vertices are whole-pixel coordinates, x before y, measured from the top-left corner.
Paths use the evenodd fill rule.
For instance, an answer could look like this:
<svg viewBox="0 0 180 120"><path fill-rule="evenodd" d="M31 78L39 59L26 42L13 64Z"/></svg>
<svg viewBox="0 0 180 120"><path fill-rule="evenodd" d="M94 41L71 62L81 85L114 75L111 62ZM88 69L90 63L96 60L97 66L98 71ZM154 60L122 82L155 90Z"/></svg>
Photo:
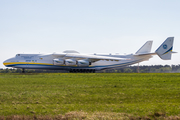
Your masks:
<svg viewBox="0 0 180 120"><path fill-rule="evenodd" d="M170 60L174 37L168 37L160 47L150 53L152 41L147 41L135 54L102 55L80 54L67 50L60 54L17 54L3 62L6 67L24 69L68 70L69 72L95 72L97 70L120 68L149 60L158 55L163 60Z"/></svg>

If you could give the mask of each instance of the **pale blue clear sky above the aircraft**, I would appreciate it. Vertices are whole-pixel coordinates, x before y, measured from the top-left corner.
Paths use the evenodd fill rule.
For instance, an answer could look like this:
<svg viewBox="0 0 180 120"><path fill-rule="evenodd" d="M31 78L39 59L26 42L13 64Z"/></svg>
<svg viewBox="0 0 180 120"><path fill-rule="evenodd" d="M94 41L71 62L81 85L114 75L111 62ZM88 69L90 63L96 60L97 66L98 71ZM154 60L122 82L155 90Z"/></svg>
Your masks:
<svg viewBox="0 0 180 120"><path fill-rule="evenodd" d="M17 53L135 53L167 37L180 51L180 0L0 0L0 68ZM178 65L154 56L140 65Z"/></svg>

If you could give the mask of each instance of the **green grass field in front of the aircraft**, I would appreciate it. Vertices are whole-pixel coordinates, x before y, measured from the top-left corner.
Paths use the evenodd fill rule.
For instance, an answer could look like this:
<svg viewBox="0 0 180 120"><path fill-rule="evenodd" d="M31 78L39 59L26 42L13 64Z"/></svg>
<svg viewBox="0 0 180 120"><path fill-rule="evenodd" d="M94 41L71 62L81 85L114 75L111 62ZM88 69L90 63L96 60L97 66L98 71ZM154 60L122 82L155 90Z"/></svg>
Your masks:
<svg viewBox="0 0 180 120"><path fill-rule="evenodd" d="M70 113L85 118L179 116L180 74L0 74L1 117Z"/></svg>

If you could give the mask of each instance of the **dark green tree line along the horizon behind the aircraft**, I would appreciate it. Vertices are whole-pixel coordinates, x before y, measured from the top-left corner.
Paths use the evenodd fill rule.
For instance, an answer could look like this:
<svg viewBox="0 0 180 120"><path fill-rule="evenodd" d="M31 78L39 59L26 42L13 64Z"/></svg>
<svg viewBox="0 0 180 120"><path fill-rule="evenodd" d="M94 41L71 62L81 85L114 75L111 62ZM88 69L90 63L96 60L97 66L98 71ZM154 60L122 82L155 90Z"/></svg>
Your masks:
<svg viewBox="0 0 180 120"><path fill-rule="evenodd" d="M180 73L180 65L143 65L128 66L124 68L115 68L96 71L97 73ZM0 69L0 73L22 73L22 69L6 68ZM65 70L35 70L25 69L25 73L68 73Z"/></svg>

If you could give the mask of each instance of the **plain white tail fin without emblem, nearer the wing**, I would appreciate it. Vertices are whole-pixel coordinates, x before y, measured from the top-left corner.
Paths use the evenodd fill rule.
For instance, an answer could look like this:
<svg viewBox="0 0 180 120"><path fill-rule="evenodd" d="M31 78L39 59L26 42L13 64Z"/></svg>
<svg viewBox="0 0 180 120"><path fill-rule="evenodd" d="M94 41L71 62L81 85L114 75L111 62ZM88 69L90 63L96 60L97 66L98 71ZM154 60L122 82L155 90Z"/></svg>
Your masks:
<svg viewBox="0 0 180 120"><path fill-rule="evenodd" d="M147 41L137 52L136 54L146 54L151 52L153 41Z"/></svg>

